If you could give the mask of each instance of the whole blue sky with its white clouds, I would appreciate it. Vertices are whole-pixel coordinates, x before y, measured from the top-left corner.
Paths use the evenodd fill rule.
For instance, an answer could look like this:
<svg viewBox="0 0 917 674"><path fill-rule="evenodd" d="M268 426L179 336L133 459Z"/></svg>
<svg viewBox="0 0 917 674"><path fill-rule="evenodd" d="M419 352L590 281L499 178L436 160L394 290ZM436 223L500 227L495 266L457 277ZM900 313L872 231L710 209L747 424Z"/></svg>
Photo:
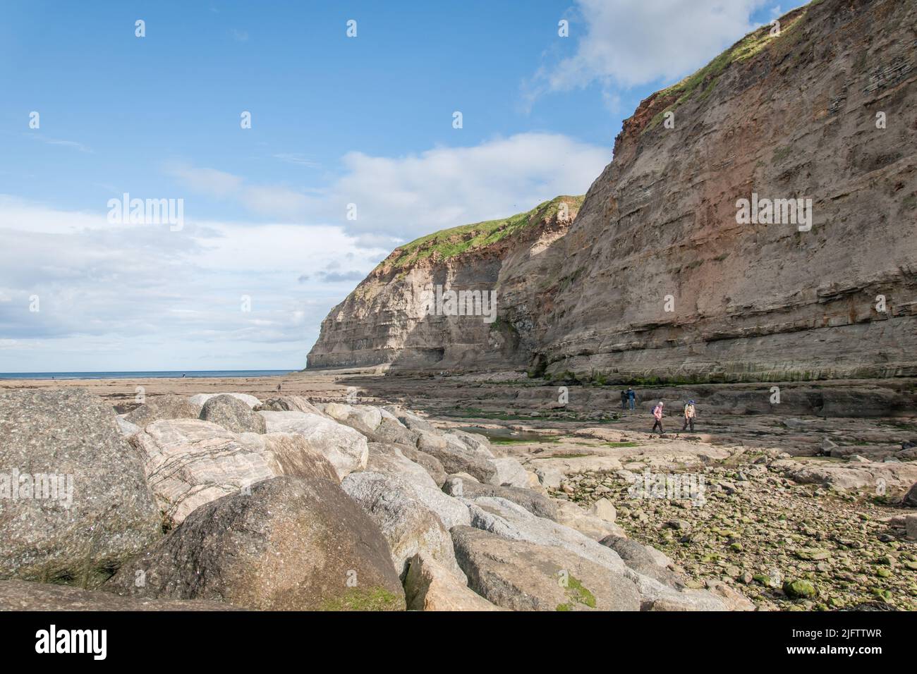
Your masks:
<svg viewBox="0 0 917 674"><path fill-rule="evenodd" d="M6 2L0 371L301 368L399 242L584 193L641 99L792 6ZM122 193L181 230L108 222Z"/></svg>

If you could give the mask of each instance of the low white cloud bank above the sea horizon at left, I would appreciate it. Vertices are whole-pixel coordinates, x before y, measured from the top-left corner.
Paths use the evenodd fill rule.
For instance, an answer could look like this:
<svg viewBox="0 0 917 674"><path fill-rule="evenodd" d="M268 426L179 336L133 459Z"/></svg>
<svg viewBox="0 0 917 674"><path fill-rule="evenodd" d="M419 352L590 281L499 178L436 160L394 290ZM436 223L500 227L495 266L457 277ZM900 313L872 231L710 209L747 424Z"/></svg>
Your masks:
<svg viewBox="0 0 917 674"><path fill-rule="evenodd" d="M5 195L0 240L0 371L302 367L341 282L297 279L362 278L388 252L358 249L341 227L186 220L172 232Z"/></svg>

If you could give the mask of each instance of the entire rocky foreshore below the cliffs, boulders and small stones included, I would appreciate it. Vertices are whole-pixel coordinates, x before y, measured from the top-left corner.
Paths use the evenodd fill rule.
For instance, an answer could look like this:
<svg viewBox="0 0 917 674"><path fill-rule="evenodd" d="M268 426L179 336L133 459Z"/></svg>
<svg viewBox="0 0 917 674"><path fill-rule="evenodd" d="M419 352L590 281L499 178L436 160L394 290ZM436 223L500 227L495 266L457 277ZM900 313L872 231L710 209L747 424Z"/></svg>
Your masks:
<svg viewBox="0 0 917 674"><path fill-rule="evenodd" d="M311 400L0 392L0 606L917 608L917 463L785 451L826 420L648 437L639 412L424 414L311 377Z"/></svg>

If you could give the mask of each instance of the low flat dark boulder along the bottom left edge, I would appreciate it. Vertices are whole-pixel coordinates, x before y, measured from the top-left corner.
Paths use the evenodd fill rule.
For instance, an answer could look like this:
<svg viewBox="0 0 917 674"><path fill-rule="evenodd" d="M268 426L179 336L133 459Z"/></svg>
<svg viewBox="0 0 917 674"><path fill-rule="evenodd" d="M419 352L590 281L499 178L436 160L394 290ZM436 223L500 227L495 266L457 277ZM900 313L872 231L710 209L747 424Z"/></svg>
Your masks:
<svg viewBox="0 0 917 674"><path fill-rule="evenodd" d="M135 599L27 580L0 580L0 611L238 611L203 600Z"/></svg>

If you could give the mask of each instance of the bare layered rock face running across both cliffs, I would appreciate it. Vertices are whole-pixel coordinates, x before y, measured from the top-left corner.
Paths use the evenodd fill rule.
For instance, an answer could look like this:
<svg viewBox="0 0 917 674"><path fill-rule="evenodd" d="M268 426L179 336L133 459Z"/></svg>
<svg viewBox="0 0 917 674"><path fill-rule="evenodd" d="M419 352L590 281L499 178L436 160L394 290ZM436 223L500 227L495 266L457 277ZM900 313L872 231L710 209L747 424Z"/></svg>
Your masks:
<svg viewBox="0 0 917 674"><path fill-rule="evenodd" d="M326 319L310 366L917 374L917 2L823 0L780 25L647 98L569 230L402 278L383 263ZM754 194L811 203L811 229L739 222ZM495 282L498 328L418 319L407 289L437 279Z"/></svg>

